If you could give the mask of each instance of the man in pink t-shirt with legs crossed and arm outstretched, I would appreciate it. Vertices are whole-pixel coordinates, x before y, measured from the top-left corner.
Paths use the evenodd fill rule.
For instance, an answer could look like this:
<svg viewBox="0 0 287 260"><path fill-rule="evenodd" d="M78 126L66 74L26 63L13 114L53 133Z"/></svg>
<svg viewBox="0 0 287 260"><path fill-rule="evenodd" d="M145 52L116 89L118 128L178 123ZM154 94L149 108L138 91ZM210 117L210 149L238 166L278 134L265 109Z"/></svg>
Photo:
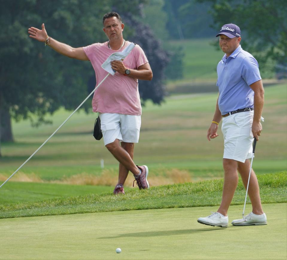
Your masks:
<svg viewBox="0 0 287 260"><path fill-rule="evenodd" d="M97 84L107 72L102 63L115 52L123 51L129 44L123 38L124 24L118 13L110 12L103 17L104 32L109 41L72 48L48 36L44 24L42 30L28 29L30 37L45 42L58 53L74 59L89 60L95 70ZM138 79L151 80L152 71L142 48L135 48L123 61L112 61L116 74L107 77L96 89L92 101L94 112L99 112L104 144L119 161L119 181L114 194L124 194L124 182L128 172L132 172L139 189L148 189L148 167L137 166L133 162L134 143L138 143L141 125L141 103Z"/></svg>

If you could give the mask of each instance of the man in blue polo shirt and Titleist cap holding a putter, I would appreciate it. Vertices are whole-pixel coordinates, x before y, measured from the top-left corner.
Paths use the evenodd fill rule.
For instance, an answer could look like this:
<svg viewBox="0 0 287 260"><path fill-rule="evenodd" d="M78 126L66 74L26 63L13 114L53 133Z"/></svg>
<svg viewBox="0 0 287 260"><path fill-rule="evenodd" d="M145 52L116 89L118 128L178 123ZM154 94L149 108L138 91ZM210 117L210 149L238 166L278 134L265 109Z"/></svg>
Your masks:
<svg viewBox="0 0 287 260"><path fill-rule="evenodd" d="M252 141L262 131L260 123L264 103L264 89L256 59L240 46L240 28L234 24L221 27L219 46L225 53L217 65L219 96L215 114L207 131L207 139L218 136L218 124L222 119L221 131L224 137L224 185L222 201L217 212L198 222L210 226L227 227L227 210L238 184L238 172L247 186ZM233 225L265 225L266 215L262 210L259 186L251 170L248 195L252 212L244 219L233 220Z"/></svg>

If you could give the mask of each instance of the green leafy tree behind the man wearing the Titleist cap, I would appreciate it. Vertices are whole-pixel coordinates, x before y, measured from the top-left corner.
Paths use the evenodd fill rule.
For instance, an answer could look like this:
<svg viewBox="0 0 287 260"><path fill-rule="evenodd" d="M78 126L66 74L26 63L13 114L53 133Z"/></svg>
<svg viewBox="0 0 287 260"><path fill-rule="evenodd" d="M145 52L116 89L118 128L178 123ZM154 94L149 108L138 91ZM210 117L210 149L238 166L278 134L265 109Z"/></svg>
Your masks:
<svg viewBox="0 0 287 260"><path fill-rule="evenodd" d="M287 67L287 1L286 0L198 0L211 4L213 28L228 23L241 29L244 49L258 60L263 69L272 60Z"/></svg>

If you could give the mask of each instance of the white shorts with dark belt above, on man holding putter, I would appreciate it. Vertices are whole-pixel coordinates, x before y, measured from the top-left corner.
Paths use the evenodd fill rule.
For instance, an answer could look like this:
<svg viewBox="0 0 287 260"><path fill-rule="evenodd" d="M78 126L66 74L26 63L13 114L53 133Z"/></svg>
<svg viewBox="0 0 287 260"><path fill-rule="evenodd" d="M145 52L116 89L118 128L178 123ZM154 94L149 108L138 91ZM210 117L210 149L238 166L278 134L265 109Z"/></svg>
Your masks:
<svg viewBox="0 0 287 260"><path fill-rule="evenodd" d="M251 126L254 111L240 112L222 118L224 138L223 158L244 163L252 157L253 134Z"/></svg>

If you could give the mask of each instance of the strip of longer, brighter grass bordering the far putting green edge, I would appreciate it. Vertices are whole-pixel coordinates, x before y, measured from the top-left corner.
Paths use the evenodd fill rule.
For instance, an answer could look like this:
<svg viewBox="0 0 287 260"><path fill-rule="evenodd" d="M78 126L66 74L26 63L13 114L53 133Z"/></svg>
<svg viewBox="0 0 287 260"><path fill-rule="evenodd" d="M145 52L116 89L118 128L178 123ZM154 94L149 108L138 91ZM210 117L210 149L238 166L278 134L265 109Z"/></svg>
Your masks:
<svg viewBox="0 0 287 260"><path fill-rule="evenodd" d="M262 203L287 202L287 172L259 175ZM125 195L111 192L73 197L0 205L0 218L42 215L65 215L87 212L159 209L177 207L201 207L219 205L223 180L201 181L148 190L131 189ZM245 188L242 182L236 190L232 205L244 203Z"/></svg>

